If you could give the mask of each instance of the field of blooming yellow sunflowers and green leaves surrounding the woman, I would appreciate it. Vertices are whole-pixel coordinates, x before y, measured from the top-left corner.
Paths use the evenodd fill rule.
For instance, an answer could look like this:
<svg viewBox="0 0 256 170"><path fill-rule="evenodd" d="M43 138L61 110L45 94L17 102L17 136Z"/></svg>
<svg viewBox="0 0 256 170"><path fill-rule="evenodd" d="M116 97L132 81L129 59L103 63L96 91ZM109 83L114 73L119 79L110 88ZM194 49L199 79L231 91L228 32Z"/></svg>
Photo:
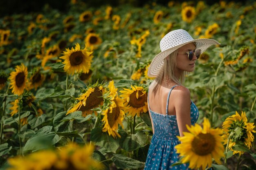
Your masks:
<svg viewBox="0 0 256 170"><path fill-rule="evenodd" d="M255 13L252 1L71 0L65 12L45 6L3 16L0 169L143 169L153 135L148 66L163 36L185 29L220 45L201 54L184 82L200 117L189 128L195 138L180 138L184 157L173 166L255 170Z"/></svg>

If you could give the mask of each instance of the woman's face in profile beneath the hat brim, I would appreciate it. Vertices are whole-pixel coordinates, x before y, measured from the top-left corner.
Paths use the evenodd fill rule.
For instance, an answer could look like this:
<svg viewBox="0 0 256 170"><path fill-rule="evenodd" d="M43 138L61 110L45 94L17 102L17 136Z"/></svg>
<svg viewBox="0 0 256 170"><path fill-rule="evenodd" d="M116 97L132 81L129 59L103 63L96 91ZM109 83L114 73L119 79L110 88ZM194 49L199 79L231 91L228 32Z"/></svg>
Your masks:
<svg viewBox="0 0 256 170"><path fill-rule="evenodd" d="M177 57L176 57L176 63L177 63L177 71L194 71L195 68L195 60L197 60L197 57L194 55L193 59L190 61L188 58L188 54L185 54L189 51L194 51L195 45L193 43L186 44L178 50ZM184 54L180 54L184 53Z"/></svg>

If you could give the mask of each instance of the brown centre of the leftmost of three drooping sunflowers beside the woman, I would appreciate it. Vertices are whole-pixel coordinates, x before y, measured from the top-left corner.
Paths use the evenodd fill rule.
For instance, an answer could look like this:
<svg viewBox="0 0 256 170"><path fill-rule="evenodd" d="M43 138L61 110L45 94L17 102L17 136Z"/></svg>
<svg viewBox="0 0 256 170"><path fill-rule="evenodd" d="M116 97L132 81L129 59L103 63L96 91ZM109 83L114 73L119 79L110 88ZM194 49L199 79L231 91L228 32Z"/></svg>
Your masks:
<svg viewBox="0 0 256 170"><path fill-rule="evenodd" d="M84 109L89 110L89 109L92 109L92 108L95 108L95 107L99 106L99 104L101 104L101 102L103 102L103 98L101 96L102 96L102 91L99 90L98 87L95 87L94 92L92 92L87 97Z"/></svg>

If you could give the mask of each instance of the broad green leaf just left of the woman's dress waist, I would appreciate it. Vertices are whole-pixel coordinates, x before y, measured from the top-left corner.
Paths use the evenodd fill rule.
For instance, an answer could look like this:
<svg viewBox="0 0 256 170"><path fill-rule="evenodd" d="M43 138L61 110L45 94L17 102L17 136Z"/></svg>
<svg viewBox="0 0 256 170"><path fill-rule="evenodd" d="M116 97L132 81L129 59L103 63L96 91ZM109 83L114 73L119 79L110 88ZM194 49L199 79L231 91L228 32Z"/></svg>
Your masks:
<svg viewBox="0 0 256 170"><path fill-rule="evenodd" d="M146 145L146 133L138 131L135 135L128 135L121 146L126 151L136 150Z"/></svg>

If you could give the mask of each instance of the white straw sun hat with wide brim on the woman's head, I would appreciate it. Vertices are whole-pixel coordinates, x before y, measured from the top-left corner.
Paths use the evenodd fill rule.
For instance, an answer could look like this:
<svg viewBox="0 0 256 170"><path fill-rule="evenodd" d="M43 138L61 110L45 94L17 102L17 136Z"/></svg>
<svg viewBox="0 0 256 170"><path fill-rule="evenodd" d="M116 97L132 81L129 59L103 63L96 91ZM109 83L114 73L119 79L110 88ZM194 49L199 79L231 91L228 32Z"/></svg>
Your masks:
<svg viewBox="0 0 256 170"><path fill-rule="evenodd" d="M166 34L160 41L161 52L157 54L150 63L150 66L148 67L148 77L156 77L164 65L164 58L171 54L173 51L191 42L196 43L196 49L200 49L201 53L203 53L211 45L220 44L216 40L207 38L194 40L191 35L189 35L189 33L183 29L171 31Z"/></svg>

